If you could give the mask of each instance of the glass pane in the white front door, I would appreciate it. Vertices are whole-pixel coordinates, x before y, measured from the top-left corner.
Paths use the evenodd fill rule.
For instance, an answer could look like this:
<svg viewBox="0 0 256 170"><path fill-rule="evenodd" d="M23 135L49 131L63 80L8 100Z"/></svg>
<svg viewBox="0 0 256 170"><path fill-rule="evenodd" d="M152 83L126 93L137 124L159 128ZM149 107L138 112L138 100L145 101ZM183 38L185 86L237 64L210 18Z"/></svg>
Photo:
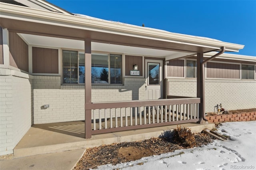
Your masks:
<svg viewBox="0 0 256 170"><path fill-rule="evenodd" d="M148 85L159 84L159 63L148 63Z"/></svg>

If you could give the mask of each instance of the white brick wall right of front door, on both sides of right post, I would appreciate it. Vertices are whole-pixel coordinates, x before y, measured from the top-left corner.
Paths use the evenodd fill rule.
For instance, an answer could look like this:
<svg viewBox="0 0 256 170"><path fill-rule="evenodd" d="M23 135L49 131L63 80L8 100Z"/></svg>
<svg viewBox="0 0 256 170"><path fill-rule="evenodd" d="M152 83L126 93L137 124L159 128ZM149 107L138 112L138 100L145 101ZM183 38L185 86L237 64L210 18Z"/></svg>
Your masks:
<svg viewBox="0 0 256 170"><path fill-rule="evenodd" d="M196 79L168 79L169 94L196 97ZM214 106L222 104L226 110L256 108L256 81L205 80L206 112L213 112Z"/></svg>

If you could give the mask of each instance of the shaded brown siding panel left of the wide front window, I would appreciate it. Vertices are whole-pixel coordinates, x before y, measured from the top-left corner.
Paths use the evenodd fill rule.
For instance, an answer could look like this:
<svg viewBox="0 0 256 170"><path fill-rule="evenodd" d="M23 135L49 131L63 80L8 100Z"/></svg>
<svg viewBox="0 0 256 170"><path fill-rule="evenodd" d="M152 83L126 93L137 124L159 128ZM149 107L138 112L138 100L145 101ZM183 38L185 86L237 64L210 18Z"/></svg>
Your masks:
<svg viewBox="0 0 256 170"><path fill-rule="evenodd" d="M58 49L32 47L33 73L58 73Z"/></svg>

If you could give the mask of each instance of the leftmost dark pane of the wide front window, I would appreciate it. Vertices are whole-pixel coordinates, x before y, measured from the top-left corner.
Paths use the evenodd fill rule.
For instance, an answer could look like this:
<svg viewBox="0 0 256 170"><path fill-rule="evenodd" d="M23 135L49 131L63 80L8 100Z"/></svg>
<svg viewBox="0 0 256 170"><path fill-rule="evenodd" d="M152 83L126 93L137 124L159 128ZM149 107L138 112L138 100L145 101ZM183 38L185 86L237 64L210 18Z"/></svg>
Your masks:
<svg viewBox="0 0 256 170"><path fill-rule="evenodd" d="M78 83L77 61L77 51L62 51L63 83Z"/></svg>

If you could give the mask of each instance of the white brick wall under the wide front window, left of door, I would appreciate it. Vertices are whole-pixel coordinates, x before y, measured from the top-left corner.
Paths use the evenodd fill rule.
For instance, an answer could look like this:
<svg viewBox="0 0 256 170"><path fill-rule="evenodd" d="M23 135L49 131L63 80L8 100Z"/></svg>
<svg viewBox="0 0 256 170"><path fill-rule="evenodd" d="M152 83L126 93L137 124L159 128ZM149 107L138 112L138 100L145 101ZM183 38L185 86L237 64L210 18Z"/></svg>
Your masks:
<svg viewBox="0 0 256 170"><path fill-rule="evenodd" d="M84 86L60 85L58 76L34 76L33 83L34 124L84 120ZM125 78L121 86L92 86L92 102L144 100L144 83L143 78ZM50 107L44 109L46 104Z"/></svg>

